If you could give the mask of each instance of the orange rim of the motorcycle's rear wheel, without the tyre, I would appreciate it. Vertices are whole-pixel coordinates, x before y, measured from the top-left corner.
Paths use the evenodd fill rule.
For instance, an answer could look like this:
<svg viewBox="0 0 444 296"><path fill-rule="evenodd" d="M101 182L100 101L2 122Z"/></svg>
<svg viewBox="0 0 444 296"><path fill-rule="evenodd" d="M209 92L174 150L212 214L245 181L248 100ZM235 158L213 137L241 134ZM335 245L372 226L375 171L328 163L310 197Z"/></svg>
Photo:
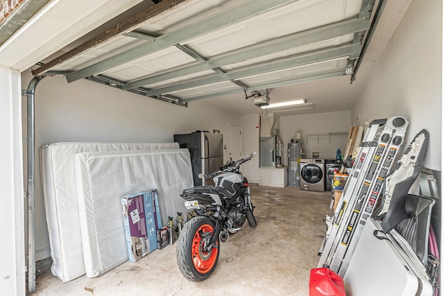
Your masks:
<svg viewBox="0 0 444 296"><path fill-rule="evenodd" d="M212 232L213 230L214 228L211 225L205 224L200 226L194 233L191 245L191 259L194 268L200 273L209 272L213 268L214 263L216 263L218 249L212 248L210 252L205 252L202 248L203 239L200 237L200 233Z"/></svg>

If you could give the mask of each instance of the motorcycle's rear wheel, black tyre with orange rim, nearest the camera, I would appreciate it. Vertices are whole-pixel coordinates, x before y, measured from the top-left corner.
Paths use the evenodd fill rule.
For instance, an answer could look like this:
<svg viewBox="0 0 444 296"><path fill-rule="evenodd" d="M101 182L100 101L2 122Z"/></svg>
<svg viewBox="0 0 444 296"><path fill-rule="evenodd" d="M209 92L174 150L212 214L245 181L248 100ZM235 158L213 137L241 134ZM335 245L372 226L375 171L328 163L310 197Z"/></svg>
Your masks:
<svg viewBox="0 0 444 296"><path fill-rule="evenodd" d="M189 220L178 238L176 259L182 275L189 281L204 281L212 275L219 260L219 236L216 247L205 250L205 235L214 232L210 218L197 216Z"/></svg>

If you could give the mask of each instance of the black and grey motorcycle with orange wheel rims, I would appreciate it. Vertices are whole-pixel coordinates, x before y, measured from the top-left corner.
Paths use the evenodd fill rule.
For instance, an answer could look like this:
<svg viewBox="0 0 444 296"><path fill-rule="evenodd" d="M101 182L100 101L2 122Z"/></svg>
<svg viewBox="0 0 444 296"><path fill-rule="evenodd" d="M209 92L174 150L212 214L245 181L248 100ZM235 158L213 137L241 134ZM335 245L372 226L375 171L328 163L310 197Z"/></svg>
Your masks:
<svg viewBox="0 0 444 296"><path fill-rule="evenodd" d="M253 150L248 157L224 166L221 171L199 175L205 179L214 177L216 186L195 186L180 195L192 218L180 232L176 257L180 272L189 281L204 281L212 275L219 260L220 242L228 241L246 219L251 227L256 227L248 180L239 172L241 164L256 154Z"/></svg>

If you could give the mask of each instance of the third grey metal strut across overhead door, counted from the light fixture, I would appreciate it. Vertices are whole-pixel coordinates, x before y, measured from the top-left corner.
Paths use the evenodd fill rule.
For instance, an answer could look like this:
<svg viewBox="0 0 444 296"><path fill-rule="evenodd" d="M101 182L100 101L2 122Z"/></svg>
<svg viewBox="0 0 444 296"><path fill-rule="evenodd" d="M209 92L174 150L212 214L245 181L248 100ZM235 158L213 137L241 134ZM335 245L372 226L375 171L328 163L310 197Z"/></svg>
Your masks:
<svg viewBox="0 0 444 296"><path fill-rule="evenodd" d="M182 69L174 69L160 75L151 76L148 78L136 80L123 85L123 89L131 89L133 87L141 87L155 82L169 80L172 78L178 78L186 76L191 73L198 73L214 69L216 67L222 67L228 64L241 62L243 60L250 60L263 55L271 53L277 53L287 49L293 49L299 46L305 46L308 44L314 44L324 40L330 40L335 37L357 33L367 30L369 26L368 18L354 19L352 21L341 21L334 25L322 26L314 28L304 32L294 33L287 35L272 42L264 42L253 46L247 46L244 49L232 51L228 55L222 55L219 58L207 60L203 64L194 64L191 66L183 67Z"/></svg>

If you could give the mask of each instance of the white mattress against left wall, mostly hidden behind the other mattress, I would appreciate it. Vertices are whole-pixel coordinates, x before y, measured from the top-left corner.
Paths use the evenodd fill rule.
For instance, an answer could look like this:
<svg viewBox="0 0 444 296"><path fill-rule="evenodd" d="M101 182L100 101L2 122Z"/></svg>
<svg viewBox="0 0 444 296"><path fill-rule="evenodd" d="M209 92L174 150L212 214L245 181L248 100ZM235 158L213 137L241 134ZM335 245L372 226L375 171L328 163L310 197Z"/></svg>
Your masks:
<svg viewBox="0 0 444 296"><path fill-rule="evenodd" d="M177 149L178 143L53 143L40 149L51 272L62 281L85 275L74 156L88 151Z"/></svg>

